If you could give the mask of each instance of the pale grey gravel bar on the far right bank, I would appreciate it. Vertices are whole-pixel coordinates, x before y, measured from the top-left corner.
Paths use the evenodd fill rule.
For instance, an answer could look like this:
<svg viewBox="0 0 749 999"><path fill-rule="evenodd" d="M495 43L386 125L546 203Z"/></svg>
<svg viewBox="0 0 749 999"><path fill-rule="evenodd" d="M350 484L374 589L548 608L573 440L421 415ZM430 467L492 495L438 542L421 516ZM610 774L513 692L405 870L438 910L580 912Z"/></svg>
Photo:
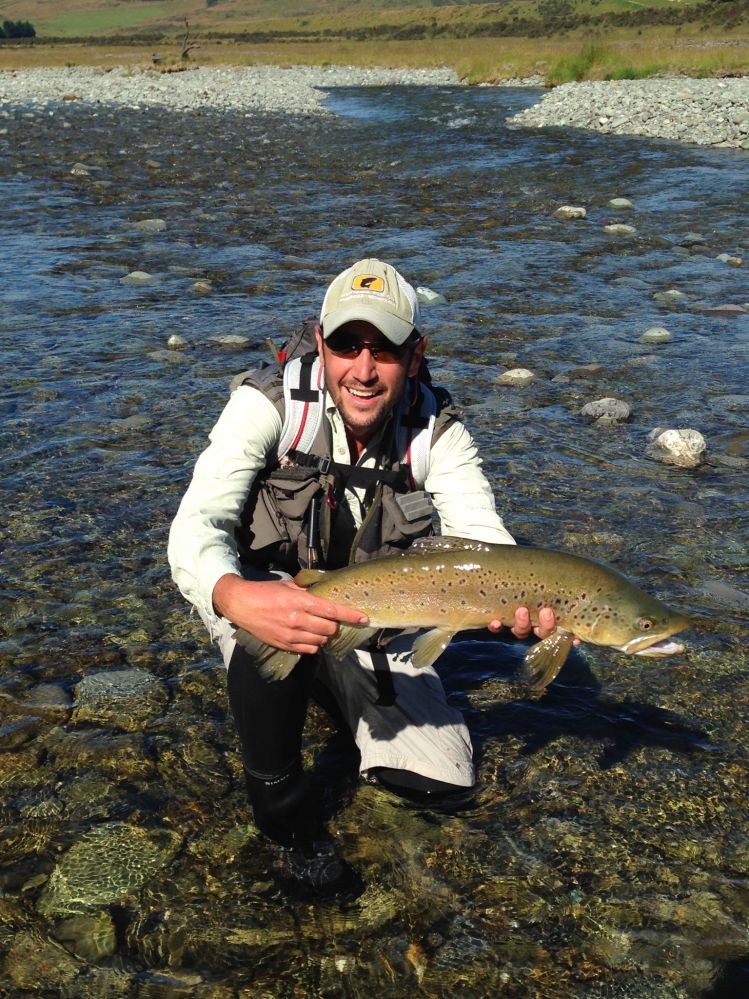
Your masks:
<svg viewBox="0 0 749 999"><path fill-rule="evenodd" d="M749 150L749 77L565 83L509 123Z"/></svg>

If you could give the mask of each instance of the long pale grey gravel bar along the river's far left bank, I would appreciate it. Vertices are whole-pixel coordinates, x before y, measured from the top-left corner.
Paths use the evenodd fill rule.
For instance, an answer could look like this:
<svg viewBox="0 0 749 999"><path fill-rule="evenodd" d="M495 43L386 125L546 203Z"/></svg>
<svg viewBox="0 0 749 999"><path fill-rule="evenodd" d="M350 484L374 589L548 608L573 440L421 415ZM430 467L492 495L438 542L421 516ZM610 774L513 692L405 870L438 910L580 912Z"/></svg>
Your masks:
<svg viewBox="0 0 749 999"><path fill-rule="evenodd" d="M362 69L355 66L194 67L112 70L88 67L0 72L0 105L46 107L63 101L132 108L204 108L288 114L325 113L331 87L456 84L450 69Z"/></svg>

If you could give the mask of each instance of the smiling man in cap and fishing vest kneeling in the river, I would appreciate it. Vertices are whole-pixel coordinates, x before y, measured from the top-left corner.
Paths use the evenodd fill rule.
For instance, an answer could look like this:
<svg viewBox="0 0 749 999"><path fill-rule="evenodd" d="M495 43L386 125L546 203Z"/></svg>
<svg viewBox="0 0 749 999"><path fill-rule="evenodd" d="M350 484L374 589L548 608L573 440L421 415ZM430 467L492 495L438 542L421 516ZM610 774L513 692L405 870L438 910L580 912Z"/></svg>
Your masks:
<svg viewBox="0 0 749 999"><path fill-rule="evenodd" d="M366 615L315 597L293 575L303 564L405 550L431 532L434 511L445 535L514 541L470 435L424 381L411 285L389 264L358 261L327 289L315 340L316 355L287 365L283 396L275 373L262 372L231 395L172 525L169 559L228 666L256 824L292 851L302 880L324 886L342 866L302 770L310 696L350 728L366 779L444 802L475 777L466 726L437 673L410 665L413 636L386 652L326 657L339 624ZM238 628L303 658L286 679L267 681L235 641ZM548 610L536 633L553 628ZM512 630L531 633L526 608Z"/></svg>

